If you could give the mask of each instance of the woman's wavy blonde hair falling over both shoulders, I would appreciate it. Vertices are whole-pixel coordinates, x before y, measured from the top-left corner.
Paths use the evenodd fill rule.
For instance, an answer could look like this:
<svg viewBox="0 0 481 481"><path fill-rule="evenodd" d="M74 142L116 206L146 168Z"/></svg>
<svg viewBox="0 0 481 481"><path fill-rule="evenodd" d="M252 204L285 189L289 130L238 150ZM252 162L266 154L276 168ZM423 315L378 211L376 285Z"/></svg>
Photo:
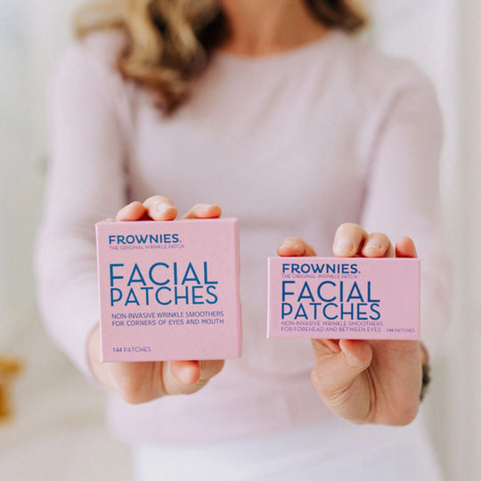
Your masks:
<svg viewBox="0 0 481 481"><path fill-rule="evenodd" d="M305 0L327 27L353 33L365 24L349 0ZM82 7L75 19L77 37L96 29L122 29L126 48L118 70L150 89L166 113L189 94L189 80L200 75L217 46L229 36L218 0L104 0Z"/></svg>

